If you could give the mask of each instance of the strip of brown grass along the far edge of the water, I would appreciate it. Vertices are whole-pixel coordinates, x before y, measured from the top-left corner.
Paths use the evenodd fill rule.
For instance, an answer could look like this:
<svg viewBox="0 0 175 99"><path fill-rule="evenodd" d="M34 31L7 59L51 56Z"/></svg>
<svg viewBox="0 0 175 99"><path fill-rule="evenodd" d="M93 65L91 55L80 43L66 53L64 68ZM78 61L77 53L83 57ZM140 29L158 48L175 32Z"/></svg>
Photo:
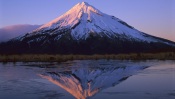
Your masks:
<svg viewBox="0 0 175 99"><path fill-rule="evenodd" d="M175 60L175 52L166 53L131 53L111 55L48 55L48 54L24 54L24 55L0 55L0 62L64 62L68 60Z"/></svg>

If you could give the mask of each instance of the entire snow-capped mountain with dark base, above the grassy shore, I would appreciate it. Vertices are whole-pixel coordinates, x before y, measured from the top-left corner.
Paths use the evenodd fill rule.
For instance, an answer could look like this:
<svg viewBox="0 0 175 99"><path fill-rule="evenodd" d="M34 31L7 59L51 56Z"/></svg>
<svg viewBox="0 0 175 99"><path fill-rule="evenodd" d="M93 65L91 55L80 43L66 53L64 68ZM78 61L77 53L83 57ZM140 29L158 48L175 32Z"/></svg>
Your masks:
<svg viewBox="0 0 175 99"><path fill-rule="evenodd" d="M38 29L0 44L0 48L0 53L117 54L172 51L175 43L140 32L81 2Z"/></svg>

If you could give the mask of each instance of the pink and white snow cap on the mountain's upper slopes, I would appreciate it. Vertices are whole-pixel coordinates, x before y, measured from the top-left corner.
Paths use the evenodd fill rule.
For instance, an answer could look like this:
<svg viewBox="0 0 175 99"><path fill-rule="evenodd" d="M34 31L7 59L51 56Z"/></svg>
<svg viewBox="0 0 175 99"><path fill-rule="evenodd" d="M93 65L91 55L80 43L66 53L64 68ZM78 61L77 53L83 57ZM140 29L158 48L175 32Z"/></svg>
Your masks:
<svg viewBox="0 0 175 99"><path fill-rule="evenodd" d="M118 35L123 35L128 39L157 42L157 39L141 33L122 20L107 15L86 2L78 3L68 12L36 29L30 35L52 34L52 32L45 31L55 29L56 32L71 31L71 36L75 40L86 39L91 33L94 33L101 37L115 38Z"/></svg>

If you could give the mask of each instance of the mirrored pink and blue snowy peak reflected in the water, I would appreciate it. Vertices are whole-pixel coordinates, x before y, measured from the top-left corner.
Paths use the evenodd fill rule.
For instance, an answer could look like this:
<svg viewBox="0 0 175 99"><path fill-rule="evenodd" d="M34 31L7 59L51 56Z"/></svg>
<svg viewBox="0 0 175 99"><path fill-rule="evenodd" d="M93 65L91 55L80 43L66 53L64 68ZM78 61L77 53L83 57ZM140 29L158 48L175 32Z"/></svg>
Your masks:
<svg viewBox="0 0 175 99"><path fill-rule="evenodd" d="M121 66L74 66L69 70L40 74L42 78L63 88L77 99L86 99L99 93L101 90L113 87L128 77L134 75L147 66L121 65Z"/></svg>

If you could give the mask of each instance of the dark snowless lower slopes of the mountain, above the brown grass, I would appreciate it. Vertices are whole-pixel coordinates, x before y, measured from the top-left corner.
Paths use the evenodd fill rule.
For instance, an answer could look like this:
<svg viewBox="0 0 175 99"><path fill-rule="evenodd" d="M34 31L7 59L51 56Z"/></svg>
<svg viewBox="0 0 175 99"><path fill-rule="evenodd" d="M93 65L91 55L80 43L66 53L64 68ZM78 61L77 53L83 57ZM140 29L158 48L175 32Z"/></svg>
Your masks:
<svg viewBox="0 0 175 99"><path fill-rule="evenodd" d="M61 33L61 32L60 32ZM0 44L0 54L60 54L60 55L93 55L93 54L128 54L175 52L175 47L160 42L140 42L119 35L110 39L89 33L86 40L74 40L69 32L59 39L59 34L39 34L26 37L22 41L12 40ZM145 34L146 36L146 34ZM38 40L39 39L39 40ZM170 41L167 41L170 42ZM173 42L170 42L174 44Z"/></svg>

